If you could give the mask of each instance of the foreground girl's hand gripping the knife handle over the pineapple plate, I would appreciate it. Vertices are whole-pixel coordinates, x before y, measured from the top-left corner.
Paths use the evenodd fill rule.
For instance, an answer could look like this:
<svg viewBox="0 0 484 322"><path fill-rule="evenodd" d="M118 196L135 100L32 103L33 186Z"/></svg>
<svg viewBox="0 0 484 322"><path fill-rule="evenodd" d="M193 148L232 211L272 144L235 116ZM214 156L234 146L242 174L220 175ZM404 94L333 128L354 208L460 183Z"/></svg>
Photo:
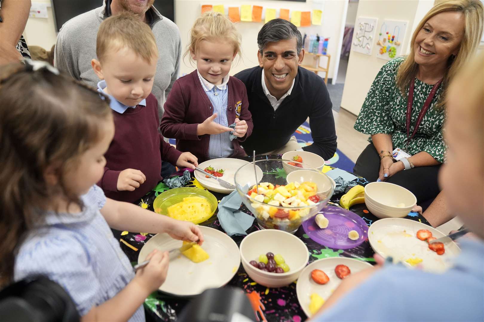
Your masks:
<svg viewBox="0 0 484 322"><path fill-rule="evenodd" d="M150 260L146 266L136 271L136 283L143 289L149 290L150 293L156 291L163 282L165 282L170 263L168 252L154 250L146 256Z"/></svg>

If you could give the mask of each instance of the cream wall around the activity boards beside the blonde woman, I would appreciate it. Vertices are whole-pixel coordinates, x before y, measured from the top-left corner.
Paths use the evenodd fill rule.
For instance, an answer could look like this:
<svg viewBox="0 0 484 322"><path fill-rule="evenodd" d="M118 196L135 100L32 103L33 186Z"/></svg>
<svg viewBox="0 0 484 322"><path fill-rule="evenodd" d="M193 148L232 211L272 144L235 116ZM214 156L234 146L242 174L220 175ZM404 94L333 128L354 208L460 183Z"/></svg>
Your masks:
<svg viewBox="0 0 484 322"><path fill-rule="evenodd" d="M384 19L408 21L408 29L402 42L403 48L409 49L409 41L416 24L423 15L432 8L433 0L360 0L358 4L358 17L378 18L380 29ZM376 56L377 46L374 44L372 56L349 53L346 82L343 89L341 107L358 115L362 107L366 93L370 88L378 70L387 62Z"/></svg>

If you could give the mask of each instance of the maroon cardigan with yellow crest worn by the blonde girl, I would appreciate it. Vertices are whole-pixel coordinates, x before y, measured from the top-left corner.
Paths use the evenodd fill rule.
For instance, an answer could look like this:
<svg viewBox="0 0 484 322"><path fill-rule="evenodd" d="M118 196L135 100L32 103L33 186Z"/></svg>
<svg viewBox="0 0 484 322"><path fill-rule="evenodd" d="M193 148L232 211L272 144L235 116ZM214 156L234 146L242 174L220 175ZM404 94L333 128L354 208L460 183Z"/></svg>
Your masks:
<svg viewBox="0 0 484 322"><path fill-rule="evenodd" d="M245 155L240 146L252 133L252 115L245 85L235 77L230 77L228 86L227 121L232 124L236 117L247 122L247 133L242 138L232 140L234 153L230 157ZM240 107L240 116L236 115ZM191 152L198 163L208 159L210 134L197 135L197 126L213 114L212 103L198 78L197 70L175 81L165 102L165 112L161 119L161 133L166 138L177 140L177 150Z"/></svg>

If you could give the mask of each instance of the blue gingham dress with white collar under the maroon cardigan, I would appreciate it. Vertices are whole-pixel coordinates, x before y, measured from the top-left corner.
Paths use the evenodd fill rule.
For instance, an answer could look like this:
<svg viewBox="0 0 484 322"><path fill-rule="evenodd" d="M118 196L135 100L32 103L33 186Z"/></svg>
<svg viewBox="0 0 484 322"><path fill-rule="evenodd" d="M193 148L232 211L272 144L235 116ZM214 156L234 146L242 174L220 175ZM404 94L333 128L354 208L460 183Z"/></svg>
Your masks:
<svg viewBox="0 0 484 322"><path fill-rule="evenodd" d="M226 76L227 79L230 76ZM202 84L205 93L210 99L213 106L213 112L217 113L217 117L214 122L222 126L228 127L227 120L227 103L228 103L228 85L224 84L222 89L218 88L216 85L209 89L202 80L200 73L198 73L198 79ZM207 82L207 81L205 81ZM209 158L226 158L234 153L234 148L232 147L232 142L230 141L230 132L224 132L220 134L211 134L209 143Z"/></svg>

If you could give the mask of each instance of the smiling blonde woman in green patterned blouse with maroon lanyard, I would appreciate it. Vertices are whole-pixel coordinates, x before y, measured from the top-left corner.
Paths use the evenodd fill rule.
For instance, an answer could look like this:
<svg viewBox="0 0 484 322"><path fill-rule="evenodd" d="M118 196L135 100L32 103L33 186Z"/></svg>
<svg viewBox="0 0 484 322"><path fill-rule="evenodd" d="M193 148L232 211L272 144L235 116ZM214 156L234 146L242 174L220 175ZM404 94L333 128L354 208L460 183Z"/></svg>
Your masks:
<svg viewBox="0 0 484 322"><path fill-rule="evenodd" d="M371 135L371 143L356 161L356 174L370 182L406 187L418 202L438 195L437 174L445 152L442 125L447 84L474 55L483 31L483 15L478 0L438 2L414 31L410 54L381 68L354 125ZM394 160L397 148L411 156Z"/></svg>

